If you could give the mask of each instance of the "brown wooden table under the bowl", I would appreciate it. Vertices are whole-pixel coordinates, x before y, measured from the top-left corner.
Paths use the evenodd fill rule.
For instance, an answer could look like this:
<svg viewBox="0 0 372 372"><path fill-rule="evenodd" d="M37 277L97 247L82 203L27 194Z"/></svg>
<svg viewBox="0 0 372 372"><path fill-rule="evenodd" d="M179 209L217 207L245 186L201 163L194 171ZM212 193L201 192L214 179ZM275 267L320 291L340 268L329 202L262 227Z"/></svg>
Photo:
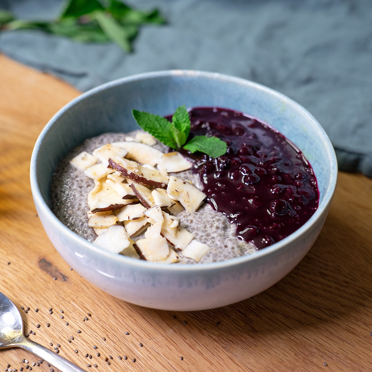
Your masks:
<svg viewBox="0 0 372 372"><path fill-rule="evenodd" d="M340 172L318 240L267 291L207 311L138 307L71 270L33 205L33 145L80 93L1 55L0 82L0 291L35 332L30 339L86 371L372 370L372 179ZM24 359L51 371L22 349L1 350L0 370L20 371Z"/></svg>

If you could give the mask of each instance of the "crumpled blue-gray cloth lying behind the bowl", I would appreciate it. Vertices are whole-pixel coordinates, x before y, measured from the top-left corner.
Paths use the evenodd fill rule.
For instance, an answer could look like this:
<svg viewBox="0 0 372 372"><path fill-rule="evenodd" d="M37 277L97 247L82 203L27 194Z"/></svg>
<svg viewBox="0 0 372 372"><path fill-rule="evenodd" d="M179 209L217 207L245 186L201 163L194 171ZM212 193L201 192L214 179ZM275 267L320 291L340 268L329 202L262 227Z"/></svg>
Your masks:
<svg viewBox="0 0 372 372"><path fill-rule="evenodd" d="M168 23L141 28L128 54L39 31L0 33L0 52L84 91L147 71L195 69L247 78L291 97L320 122L339 167L372 177L372 0L128 0ZM0 0L50 19L60 0ZM1 76L1 71L0 71Z"/></svg>

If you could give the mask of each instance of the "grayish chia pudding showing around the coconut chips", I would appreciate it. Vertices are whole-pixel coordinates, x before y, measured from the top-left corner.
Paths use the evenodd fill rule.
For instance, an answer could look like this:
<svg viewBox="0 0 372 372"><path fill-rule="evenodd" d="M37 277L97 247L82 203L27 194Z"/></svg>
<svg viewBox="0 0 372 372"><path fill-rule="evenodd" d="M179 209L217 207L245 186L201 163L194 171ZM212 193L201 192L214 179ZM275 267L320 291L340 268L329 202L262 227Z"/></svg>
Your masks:
<svg viewBox="0 0 372 372"><path fill-rule="evenodd" d="M82 151L92 153L101 145L124 141L126 137L134 137L136 132L128 134L105 133L84 141L60 161L52 178L50 199L53 213L64 225L90 242L97 237L93 228L88 226L87 218L87 211L90 210L87 197L94 187L94 181L87 177L83 171L72 166L70 160ZM167 146L160 142L157 142L154 147L167 152ZM169 174L190 180L200 190L203 189L199 175L194 174L191 170ZM177 217L180 218L180 224L195 235L196 240L211 247L199 263L224 261L256 251L254 244L238 240L235 236L236 225L231 224L221 212L214 211L208 203L203 203L194 213L184 210ZM143 235L139 235L133 240L142 237ZM182 251L179 252L179 255L180 262L177 264L196 263L193 259L182 256Z"/></svg>

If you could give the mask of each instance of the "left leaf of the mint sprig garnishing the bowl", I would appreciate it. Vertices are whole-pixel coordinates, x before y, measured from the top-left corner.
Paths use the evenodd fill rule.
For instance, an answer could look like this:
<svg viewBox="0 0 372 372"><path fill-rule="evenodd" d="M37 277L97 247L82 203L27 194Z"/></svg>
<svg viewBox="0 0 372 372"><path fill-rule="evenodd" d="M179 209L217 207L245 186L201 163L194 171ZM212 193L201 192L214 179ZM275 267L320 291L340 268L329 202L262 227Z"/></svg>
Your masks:
<svg viewBox="0 0 372 372"><path fill-rule="evenodd" d="M132 110L132 115L144 131L149 132L164 145L177 149L177 143L172 135L171 123L166 118L137 110Z"/></svg>

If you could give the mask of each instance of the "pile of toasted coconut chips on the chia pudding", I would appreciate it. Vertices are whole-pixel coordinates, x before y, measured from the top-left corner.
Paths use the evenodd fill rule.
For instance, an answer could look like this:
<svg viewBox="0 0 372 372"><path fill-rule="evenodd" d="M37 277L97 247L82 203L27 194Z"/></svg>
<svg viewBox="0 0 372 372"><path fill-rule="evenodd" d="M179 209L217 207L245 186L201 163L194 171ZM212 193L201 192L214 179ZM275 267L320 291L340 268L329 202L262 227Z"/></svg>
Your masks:
<svg viewBox="0 0 372 372"><path fill-rule="evenodd" d="M176 215L193 213L206 195L191 181L170 175L192 164L177 151L153 147L148 133L136 141L112 142L83 151L71 160L94 180L88 195L88 225L94 244L113 253L152 262L176 263L183 257L199 262L210 250L180 224ZM141 238L137 238L141 235Z"/></svg>

